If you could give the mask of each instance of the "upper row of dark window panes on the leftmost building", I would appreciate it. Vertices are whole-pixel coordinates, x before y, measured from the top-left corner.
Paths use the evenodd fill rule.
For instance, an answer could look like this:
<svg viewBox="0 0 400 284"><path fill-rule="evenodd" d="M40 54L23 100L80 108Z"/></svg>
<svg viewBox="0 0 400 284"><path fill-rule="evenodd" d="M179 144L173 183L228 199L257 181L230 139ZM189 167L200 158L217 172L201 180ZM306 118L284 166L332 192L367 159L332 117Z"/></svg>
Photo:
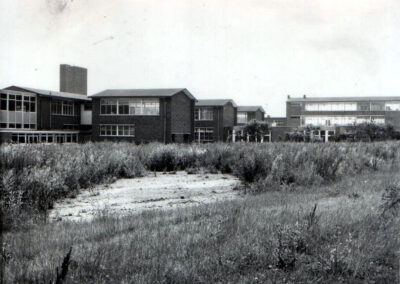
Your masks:
<svg viewBox="0 0 400 284"><path fill-rule="evenodd" d="M25 94L2 93L0 96L0 110L36 112L36 97Z"/></svg>

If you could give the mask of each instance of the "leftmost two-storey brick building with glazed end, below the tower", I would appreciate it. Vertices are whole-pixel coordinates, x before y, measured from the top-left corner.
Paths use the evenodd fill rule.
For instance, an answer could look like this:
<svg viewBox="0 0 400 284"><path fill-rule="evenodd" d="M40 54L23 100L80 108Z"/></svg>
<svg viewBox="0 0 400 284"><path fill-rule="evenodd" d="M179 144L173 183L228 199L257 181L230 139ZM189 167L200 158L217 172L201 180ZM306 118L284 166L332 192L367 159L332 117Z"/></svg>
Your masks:
<svg viewBox="0 0 400 284"><path fill-rule="evenodd" d="M65 90L1 89L0 142L78 142L90 135L91 99Z"/></svg>

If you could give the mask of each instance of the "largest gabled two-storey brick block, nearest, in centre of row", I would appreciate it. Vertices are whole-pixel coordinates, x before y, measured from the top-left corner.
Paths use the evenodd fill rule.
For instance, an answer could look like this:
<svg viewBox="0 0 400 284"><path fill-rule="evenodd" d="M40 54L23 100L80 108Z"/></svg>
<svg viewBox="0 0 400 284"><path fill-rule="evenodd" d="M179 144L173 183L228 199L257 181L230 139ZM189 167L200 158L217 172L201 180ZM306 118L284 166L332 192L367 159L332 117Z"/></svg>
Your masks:
<svg viewBox="0 0 400 284"><path fill-rule="evenodd" d="M193 141L196 99L187 89L105 90L91 98L95 141Z"/></svg>

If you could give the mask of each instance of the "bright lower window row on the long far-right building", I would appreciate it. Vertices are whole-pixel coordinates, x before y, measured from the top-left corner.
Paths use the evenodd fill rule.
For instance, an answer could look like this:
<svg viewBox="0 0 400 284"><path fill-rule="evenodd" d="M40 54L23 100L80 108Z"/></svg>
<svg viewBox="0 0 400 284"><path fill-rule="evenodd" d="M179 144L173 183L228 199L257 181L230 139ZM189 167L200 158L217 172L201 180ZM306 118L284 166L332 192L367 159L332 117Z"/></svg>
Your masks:
<svg viewBox="0 0 400 284"><path fill-rule="evenodd" d="M382 116L303 116L303 125L330 126L330 125L354 125L365 122L384 124Z"/></svg>

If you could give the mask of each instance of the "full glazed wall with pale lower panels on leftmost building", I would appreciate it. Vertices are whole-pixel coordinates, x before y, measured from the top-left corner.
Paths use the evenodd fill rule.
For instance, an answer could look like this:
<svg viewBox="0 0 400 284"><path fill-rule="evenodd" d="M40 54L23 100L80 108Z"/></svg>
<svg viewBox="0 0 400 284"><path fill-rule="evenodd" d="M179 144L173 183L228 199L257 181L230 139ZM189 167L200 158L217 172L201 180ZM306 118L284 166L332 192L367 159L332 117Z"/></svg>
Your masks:
<svg viewBox="0 0 400 284"><path fill-rule="evenodd" d="M34 94L3 91L0 101L0 128L36 129Z"/></svg>

